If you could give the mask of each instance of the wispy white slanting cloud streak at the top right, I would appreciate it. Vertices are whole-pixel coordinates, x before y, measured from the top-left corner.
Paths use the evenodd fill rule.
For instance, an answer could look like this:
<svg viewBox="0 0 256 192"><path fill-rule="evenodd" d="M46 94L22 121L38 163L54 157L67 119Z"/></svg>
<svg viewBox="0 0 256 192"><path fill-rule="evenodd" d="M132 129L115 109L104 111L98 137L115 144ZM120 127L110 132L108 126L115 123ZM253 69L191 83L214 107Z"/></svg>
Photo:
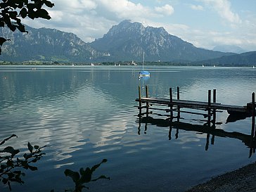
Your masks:
<svg viewBox="0 0 256 192"><path fill-rule="evenodd" d="M228 0L201 0L208 6L212 7L217 13L229 21L231 24L241 23L241 18L237 13L231 11L231 3Z"/></svg>

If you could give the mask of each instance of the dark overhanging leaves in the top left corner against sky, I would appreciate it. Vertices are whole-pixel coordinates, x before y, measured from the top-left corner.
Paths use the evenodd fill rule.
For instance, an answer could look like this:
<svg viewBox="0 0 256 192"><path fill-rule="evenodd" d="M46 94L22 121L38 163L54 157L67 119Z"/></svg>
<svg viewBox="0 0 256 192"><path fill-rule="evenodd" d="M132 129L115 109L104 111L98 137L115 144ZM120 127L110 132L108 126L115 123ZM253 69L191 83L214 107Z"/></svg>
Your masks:
<svg viewBox="0 0 256 192"><path fill-rule="evenodd" d="M49 13L42 8L43 6L53 8L54 4L48 0L3 0L0 3L0 27L7 26L13 32L16 29L20 32L27 32L20 18L28 17L32 20L35 18L51 19ZM5 41L11 40L0 37L0 55L1 46Z"/></svg>

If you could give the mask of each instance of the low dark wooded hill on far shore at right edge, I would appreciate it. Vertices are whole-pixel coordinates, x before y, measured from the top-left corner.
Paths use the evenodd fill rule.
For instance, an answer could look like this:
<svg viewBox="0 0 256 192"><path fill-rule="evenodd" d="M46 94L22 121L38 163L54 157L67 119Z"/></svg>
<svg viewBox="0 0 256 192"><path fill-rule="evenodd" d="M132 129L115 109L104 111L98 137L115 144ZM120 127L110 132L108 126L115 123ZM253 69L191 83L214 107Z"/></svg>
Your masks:
<svg viewBox="0 0 256 192"><path fill-rule="evenodd" d="M223 56L211 60L203 60L200 63L217 66L256 66L256 51L236 54L233 56Z"/></svg>

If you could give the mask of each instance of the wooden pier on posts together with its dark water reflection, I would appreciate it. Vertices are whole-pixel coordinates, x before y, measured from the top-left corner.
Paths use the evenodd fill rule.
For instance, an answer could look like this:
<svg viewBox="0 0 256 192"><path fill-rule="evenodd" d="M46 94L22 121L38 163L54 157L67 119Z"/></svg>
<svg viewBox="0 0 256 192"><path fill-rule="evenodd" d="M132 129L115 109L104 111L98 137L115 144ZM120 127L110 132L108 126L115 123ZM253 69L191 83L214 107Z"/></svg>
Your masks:
<svg viewBox="0 0 256 192"><path fill-rule="evenodd" d="M213 92L213 95L211 93ZM207 151L209 146L210 134L212 135L211 143L214 144L215 136L229 137L233 139L239 139L245 143L245 146L250 148L250 155L255 153L256 150L256 131L255 131L255 93L252 93L252 101L245 106L238 105L225 105L217 103L216 101L216 89L213 91L208 90L208 101L188 101L181 100L179 96L179 87L177 87L177 98L172 96L172 88L169 89L169 98L153 98L148 96L148 87L146 86L146 97L141 97L141 87L139 87L139 98L136 98L139 102L139 127L138 134L141 134L141 123L145 123L144 133L146 134L148 124L155 124L158 127L169 127L169 139L172 139L172 129L176 129L175 137L179 136L179 129L186 131L196 131L207 134L207 142L205 150ZM146 112L142 112L146 109ZM150 111L151 110L151 111ZM150 117L149 114L153 114L153 110L162 110L166 112L166 115L154 113L155 115L161 115L167 117L167 119L155 119ZM200 110L200 112L198 112ZM225 132L222 129L216 129L216 124L222 122L216 122L216 113L226 110L229 113L229 117L226 122L233 122L236 120L242 120L246 117L252 117L251 134L242 134L239 132ZM177 115L174 115L177 113ZM191 124L180 122L181 113L191 113L194 115L203 115L206 120L201 120L205 124ZM146 117L143 117L146 115ZM177 119L174 121L174 119Z"/></svg>

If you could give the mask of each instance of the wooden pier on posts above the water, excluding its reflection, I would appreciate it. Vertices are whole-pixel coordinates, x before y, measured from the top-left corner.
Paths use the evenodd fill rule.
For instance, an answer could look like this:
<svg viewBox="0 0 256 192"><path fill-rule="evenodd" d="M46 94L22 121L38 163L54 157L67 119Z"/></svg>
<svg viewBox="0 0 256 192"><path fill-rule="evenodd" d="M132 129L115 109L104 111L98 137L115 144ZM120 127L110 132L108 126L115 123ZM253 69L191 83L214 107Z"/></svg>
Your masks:
<svg viewBox="0 0 256 192"><path fill-rule="evenodd" d="M165 109L166 112L170 112L170 117L173 118L173 112L177 113L193 113L188 110L181 110L181 108L185 109L198 109L207 111L208 113L193 113L197 115L203 115L204 117L215 116L215 112L217 110L226 110L231 115L242 115L242 116L254 116L255 117L255 93L252 93L252 102L247 103L245 106L238 105L225 105L222 103L216 102L216 89L213 89L213 95L211 96L211 90L208 90L208 101L188 101L181 100L179 98L179 87L177 87L177 99L172 97L172 88L169 89L169 98L153 98L148 97L148 87L146 86L146 97L141 97L141 88L139 87L139 98L136 98L136 101L139 102L139 110L146 108L147 111L149 109L152 110L163 110L162 108L152 108L152 105L162 105L168 107ZM211 101L212 97L212 101ZM146 105L142 105L146 103ZM179 114L178 114L179 115Z"/></svg>

